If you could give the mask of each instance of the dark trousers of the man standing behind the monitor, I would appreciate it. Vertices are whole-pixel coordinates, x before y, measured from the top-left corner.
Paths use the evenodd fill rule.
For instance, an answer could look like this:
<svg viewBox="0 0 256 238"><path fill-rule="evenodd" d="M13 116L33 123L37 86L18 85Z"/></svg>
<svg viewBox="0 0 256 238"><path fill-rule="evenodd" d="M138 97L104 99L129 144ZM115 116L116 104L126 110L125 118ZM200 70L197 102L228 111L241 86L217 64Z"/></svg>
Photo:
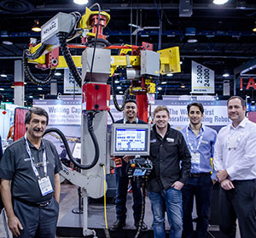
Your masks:
<svg viewBox="0 0 256 238"><path fill-rule="evenodd" d="M118 220L125 222L126 219L126 196L129 184L129 178L125 173L125 166L115 168L116 176L116 217ZM134 221L138 222L142 213L142 193L137 187L137 182L131 178L131 190L133 195L133 217Z"/></svg>

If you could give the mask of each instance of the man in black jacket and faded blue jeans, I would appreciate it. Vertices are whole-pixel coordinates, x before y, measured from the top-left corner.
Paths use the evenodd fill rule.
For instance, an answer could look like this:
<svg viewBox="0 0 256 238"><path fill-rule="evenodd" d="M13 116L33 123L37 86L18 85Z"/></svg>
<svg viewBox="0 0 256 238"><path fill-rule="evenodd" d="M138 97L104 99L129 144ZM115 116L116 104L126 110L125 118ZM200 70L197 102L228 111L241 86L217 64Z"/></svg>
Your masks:
<svg viewBox="0 0 256 238"><path fill-rule="evenodd" d="M154 238L165 238L165 207L170 238L180 238L183 230L181 189L189 178L191 156L183 134L169 125L166 106L154 110L154 126L150 133L150 159L154 169L147 190L153 212Z"/></svg>

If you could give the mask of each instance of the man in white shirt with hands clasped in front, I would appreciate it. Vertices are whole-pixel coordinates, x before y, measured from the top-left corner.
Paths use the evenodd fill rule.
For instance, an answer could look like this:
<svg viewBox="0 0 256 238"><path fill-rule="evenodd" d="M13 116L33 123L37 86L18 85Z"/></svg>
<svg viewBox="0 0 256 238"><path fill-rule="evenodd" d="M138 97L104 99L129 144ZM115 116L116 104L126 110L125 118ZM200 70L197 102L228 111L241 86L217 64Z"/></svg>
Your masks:
<svg viewBox="0 0 256 238"><path fill-rule="evenodd" d="M246 104L239 96L228 100L232 123L221 128L214 150L214 167L220 189L220 230L241 238L256 237L256 124L245 117Z"/></svg>

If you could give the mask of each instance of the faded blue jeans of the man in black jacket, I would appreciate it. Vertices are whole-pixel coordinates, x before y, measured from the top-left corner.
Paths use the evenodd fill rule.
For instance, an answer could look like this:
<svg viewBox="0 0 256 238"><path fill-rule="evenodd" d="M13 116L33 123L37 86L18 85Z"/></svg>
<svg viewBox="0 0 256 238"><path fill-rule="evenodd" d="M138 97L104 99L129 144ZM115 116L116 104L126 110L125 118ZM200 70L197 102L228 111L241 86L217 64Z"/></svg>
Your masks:
<svg viewBox="0 0 256 238"><path fill-rule="evenodd" d="M165 238L165 207L167 218L171 226L170 238L181 238L183 232L183 209L181 190L170 188L160 193L149 192L153 212L154 238Z"/></svg>

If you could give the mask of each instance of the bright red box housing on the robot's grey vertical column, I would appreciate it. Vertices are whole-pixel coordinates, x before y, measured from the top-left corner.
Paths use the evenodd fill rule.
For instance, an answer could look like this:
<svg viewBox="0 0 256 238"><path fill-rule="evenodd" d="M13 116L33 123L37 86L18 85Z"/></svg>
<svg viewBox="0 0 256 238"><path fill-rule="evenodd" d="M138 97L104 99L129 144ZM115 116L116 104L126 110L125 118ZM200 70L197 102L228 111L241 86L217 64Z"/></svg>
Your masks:
<svg viewBox="0 0 256 238"><path fill-rule="evenodd" d="M87 82L83 86L83 110L109 111L110 85Z"/></svg>

